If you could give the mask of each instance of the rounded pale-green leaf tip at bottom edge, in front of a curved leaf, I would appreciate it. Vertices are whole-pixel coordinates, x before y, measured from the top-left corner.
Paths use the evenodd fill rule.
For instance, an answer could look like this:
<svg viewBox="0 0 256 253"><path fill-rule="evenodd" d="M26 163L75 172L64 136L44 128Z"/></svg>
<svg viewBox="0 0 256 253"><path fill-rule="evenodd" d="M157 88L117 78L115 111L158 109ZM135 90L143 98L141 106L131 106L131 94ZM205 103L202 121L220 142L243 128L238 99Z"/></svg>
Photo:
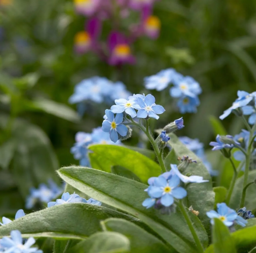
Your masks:
<svg viewBox="0 0 256 253"><path fill-rule="evenodd" d="M130 250L129 239L116 232L98 232L78 243L69 252L76 253L125 253Z"/></svg>

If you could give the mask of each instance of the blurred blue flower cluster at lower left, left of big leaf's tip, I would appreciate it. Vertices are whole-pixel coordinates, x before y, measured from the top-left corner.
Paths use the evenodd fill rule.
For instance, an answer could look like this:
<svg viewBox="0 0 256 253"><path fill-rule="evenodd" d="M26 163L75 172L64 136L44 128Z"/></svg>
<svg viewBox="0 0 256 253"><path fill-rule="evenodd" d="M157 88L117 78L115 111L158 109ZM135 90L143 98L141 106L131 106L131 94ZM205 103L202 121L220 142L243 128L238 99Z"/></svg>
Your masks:
<svg viewBox="0 0 256 253"><path fill-rule="evenodd" d="M48 180L49 186L40 184L38 189L32 187L30 195L26 199L25 207L31 209L37 203L48 203L51 199L56 198L63 192L63 187L59 187L53 180Z"/></svg>

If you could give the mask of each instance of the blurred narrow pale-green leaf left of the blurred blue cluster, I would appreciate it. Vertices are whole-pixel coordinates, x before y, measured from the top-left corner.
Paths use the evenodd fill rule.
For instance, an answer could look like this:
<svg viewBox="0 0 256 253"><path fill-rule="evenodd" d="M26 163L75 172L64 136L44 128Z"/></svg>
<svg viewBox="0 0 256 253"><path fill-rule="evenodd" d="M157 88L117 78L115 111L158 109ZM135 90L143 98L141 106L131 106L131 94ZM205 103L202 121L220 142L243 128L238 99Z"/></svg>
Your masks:
<svg viewBox="0 0 256 253"><path fill-rule="evenodd" d="M37 98L37 100L32 101L29 109L43 111L71 122L78 122L80 120L77 112L67 105L45 98Z"/></svg>

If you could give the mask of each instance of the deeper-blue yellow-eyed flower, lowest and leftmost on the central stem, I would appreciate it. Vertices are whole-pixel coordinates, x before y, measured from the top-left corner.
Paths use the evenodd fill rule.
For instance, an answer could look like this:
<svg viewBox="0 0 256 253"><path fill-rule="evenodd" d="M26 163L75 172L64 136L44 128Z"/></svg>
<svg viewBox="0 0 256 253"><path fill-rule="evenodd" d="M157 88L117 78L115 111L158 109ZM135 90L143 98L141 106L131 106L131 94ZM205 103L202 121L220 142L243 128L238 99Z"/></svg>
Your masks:
<svg viewBox="0 0 256 253"><path fill-rule="evenodd" d="M110 110L105 110L105 114L107 115L107 119L105 119L102 123L102 131L110 133L111 141L117 142L119 139L118 134L121 136L127 135L127 127L123 124L123 114L117 113L114 116L114 113Z"/></svg>

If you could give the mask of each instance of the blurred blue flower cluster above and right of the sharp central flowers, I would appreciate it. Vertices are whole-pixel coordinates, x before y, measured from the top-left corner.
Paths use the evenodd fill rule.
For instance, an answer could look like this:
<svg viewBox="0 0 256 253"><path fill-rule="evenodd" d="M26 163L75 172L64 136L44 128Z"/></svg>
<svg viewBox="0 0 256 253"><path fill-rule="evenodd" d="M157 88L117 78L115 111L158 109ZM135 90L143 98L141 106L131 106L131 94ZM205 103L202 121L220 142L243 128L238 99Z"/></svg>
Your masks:
<svg viewBox="0 0 256 253"><path fill-rule="evenodd" d="M181 113L195 113L200 105L198 95L202 89L192 77L183 76L173 68L162 70L156 75L144 78L145 87L149 90L161 91L170 88L171 97L178 98L177 106Z"/></svg>

